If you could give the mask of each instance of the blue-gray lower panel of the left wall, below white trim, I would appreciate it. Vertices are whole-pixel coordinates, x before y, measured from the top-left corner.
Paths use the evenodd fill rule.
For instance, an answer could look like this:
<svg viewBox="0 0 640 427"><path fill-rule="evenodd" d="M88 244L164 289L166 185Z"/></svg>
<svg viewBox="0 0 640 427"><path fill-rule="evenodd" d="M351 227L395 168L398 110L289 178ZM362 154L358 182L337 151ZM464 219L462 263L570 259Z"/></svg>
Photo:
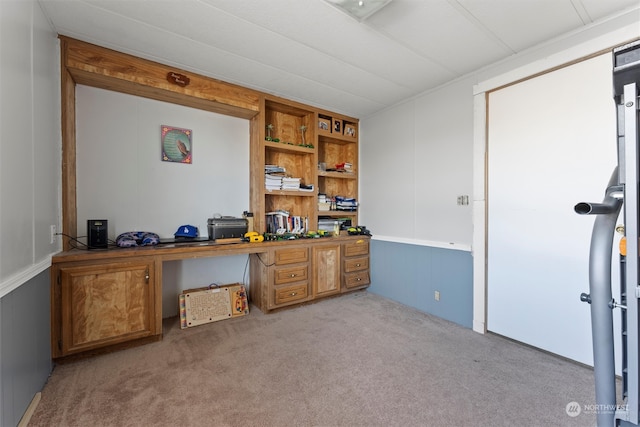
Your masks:
<svg viewBox="0 0 640 427"><path fill-rule="evenodd" d="M16 426L52 370L49 269L0 298L0 426Z"/></svg>

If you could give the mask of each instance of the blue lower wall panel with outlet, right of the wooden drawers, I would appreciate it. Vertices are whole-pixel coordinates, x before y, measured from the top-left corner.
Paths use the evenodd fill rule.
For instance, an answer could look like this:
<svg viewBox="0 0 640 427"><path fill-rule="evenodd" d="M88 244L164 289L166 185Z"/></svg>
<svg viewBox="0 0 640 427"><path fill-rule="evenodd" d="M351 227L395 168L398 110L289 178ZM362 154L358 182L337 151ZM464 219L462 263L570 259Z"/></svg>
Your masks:
<svg viewBox="0 0 640 427"><path fill-rule="evenodd" d="M473 257L468 251L371 240L369 292L459 325L473 326ZM440 292L440 301L434 298Z"/></svg>

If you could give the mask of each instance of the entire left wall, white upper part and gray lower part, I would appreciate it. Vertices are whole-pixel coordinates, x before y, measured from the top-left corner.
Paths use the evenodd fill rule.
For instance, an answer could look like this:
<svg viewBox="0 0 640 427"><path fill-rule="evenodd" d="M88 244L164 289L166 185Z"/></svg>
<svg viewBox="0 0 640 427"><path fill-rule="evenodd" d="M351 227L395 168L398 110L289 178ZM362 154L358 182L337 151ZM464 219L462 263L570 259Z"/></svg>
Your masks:
<svg viewBox="0 0 640 427"><path fill-rule="evenodd" d="M60 224L56 34L35 1L0 1L0 425L51 372L49 227Z"/></svg>

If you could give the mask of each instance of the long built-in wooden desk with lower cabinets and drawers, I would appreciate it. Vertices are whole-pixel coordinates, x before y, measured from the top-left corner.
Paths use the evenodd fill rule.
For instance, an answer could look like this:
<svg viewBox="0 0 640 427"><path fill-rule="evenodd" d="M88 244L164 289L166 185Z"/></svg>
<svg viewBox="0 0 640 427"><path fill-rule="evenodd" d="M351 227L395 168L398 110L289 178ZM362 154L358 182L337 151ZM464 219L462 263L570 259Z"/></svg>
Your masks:
<svg viewBox="0 0 640 427"><path fill-rule="evenodd" d="M52 258L52 357L162 339L162 263L243 254L256 254L249 296L263 312L370 283L368 236L72 249Z"/></svg>

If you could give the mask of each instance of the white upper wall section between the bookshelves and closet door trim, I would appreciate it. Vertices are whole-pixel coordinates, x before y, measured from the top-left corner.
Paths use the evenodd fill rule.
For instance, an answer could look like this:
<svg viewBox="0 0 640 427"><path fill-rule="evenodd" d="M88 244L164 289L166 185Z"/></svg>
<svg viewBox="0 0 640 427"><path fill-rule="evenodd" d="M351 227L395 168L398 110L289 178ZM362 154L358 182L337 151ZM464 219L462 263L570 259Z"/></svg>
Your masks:
<svg viewBox="0 0 640 427"><path fill-rule="evenodd" d="M360 222L376 239L469 250L473 97L467 79L362 119Z"/></svg>

